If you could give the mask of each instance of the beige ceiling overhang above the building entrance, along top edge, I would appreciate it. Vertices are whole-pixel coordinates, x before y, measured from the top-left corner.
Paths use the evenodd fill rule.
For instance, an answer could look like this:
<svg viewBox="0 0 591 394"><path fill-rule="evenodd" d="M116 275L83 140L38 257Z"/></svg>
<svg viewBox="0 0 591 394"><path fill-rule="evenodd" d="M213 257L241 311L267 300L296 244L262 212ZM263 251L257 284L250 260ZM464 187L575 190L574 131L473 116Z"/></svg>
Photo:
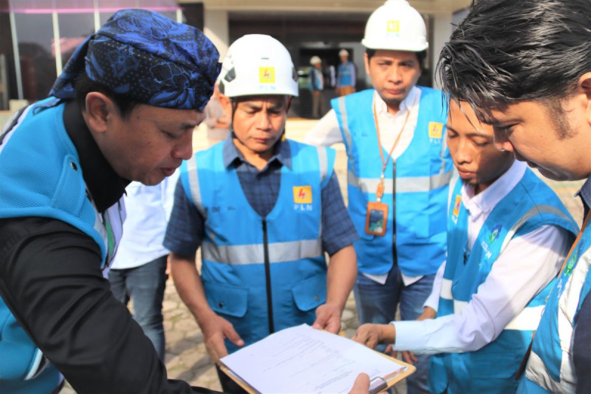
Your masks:
<svg viewBox="0 0 591 394"><path fill-rule="evenodd" d="M180 0L193 2L194 0ZM227 11L371 12L384 0L202 0L206 9ZM410 0L423 14L449 14L470 5L470 0Z"/></svg>

